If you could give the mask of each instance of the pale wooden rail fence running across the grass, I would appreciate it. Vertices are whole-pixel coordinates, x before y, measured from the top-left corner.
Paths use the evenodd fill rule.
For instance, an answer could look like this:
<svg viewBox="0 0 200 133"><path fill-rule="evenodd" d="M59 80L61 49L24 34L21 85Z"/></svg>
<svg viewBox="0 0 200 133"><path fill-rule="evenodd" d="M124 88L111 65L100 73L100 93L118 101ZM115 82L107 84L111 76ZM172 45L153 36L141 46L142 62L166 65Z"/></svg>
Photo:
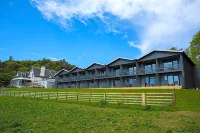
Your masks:
<svg viewBox="0 0 200 133"><path fill-rule="evenodd" d="M175 91L172 93L80 93L80 92L28 92L0 91L2 96L56 99L69 101L136 104L142 106L175 106Z"/></svg>

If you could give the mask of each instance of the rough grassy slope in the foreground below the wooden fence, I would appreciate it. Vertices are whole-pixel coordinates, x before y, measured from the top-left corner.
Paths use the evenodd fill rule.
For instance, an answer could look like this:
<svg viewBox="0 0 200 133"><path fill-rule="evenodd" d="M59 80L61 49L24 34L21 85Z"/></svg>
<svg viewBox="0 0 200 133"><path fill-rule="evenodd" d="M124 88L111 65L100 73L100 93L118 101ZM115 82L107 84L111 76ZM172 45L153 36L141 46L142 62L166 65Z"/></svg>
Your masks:
<svg viewBox="0 0 200 133"><path fill-rule="evenodd" d="M193 132L200 112L145 111L0 97L0 132Z"/></svg>

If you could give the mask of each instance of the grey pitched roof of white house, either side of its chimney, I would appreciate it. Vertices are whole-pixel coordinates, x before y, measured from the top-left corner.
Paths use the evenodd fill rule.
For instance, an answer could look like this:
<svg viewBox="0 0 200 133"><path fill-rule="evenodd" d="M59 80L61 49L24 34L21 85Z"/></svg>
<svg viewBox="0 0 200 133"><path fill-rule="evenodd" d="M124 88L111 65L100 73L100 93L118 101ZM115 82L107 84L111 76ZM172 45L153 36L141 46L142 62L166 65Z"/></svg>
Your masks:
<svg viewBox="0 0 200 133"><path fill-rule="evenodd" d="M45 76L41 76L41 68L32 67L32 69L35 77L54 78L54 75L56 74L56 71L54 70L45 69Z"/></svg>

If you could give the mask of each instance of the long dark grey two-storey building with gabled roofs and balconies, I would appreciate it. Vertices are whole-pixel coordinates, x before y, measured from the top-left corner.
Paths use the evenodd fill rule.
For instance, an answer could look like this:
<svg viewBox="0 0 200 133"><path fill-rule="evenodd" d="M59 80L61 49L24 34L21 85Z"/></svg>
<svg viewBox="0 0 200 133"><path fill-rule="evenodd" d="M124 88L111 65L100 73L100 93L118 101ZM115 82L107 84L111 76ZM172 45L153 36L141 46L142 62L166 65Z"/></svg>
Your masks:
<svg viewBox="0 0 200 133"><path fill-rule="evenodd" d="M57 88L200 88L200 68L180 51L154 50L139 59L118 58L107 65L61 70L55 77Z"/></svg>

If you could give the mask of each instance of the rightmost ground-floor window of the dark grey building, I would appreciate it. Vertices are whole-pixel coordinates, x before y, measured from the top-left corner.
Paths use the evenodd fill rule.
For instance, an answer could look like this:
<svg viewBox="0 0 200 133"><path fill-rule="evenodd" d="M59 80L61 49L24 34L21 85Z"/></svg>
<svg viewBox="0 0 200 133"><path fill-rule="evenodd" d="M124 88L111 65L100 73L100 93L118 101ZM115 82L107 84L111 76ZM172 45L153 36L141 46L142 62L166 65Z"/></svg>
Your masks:
<svg viewBox="0 0 200 133"><path fill-rule="evenodd" d="M164 85L168 86L179 86L180 80L178 75L166 75Z"/></svg>

